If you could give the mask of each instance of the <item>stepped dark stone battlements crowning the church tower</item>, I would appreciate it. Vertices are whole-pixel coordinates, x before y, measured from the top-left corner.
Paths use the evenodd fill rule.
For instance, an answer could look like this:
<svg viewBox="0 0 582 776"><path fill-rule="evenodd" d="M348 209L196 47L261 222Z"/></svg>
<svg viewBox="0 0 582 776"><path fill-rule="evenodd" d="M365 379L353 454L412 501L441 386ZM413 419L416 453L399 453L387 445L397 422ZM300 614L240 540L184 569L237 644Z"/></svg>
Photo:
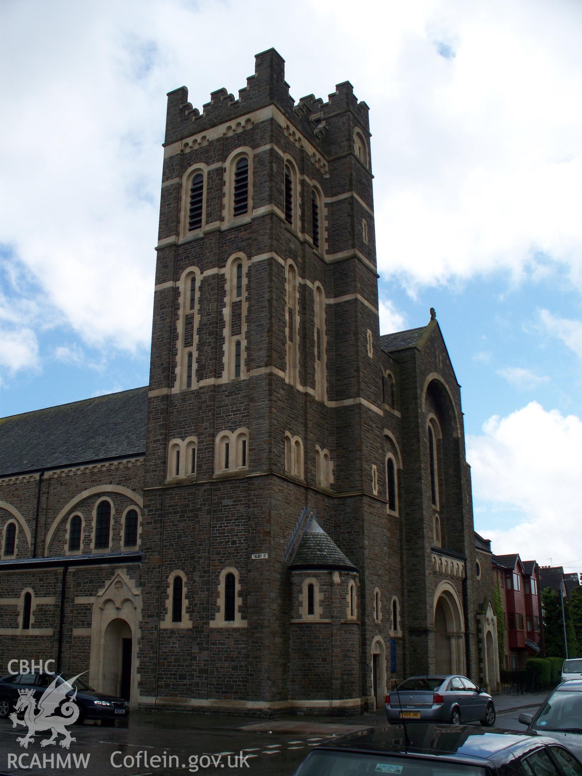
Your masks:
<svg viewBox="0 0 582 776"><path fill-rule="evenodd" d="M319 146L323 153L326 151L324 133L318 130L318 126L326 116L331 118L350 111L362 129L369 133L369 108L365 102L358 102L349 81L338 84L336 91L329 95L328 102L308 95L295 104L289 95L289 84L285 81L285 60L275 49L268 49L256 54L255 73L247 78L247 85L238 92L238 99L234 99L225 88L217 89L210 94L210 102L203 105L203 113L200 113L188 102L185 86L168 92L165 145L269 105L277 106L289 122L310 142Z"/></svg>

